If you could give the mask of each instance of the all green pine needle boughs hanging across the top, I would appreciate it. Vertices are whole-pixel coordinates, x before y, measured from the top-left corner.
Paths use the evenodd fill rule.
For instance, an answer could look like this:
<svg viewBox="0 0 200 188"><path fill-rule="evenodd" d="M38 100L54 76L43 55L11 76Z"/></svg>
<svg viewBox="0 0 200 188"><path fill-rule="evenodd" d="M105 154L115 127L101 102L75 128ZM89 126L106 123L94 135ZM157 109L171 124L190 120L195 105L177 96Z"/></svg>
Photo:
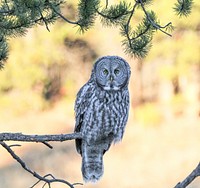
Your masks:
<svg viewBox="0 0 200 188"><path fill-rule="evenodd" d="M0 67L8 57L8 39L25 35L27 29L39 24L49 30L48 25L62 18L79 27L81 32L90 29L97 17L103 26L118 26L124 38L125 52L144 58L151 46L156 31L171 36L172 23L160 25L156 13L149 10L153 0L120 1L113 5L109 0L79 0L76 21L71 21L61 13L63 0L2 0L0 1ZM192 0L177 0L174 10L178 16L187 16L192 11ZM135 25L134 16L143 12L143 18ZM166 10L166 14L167 11Z"/></svg>

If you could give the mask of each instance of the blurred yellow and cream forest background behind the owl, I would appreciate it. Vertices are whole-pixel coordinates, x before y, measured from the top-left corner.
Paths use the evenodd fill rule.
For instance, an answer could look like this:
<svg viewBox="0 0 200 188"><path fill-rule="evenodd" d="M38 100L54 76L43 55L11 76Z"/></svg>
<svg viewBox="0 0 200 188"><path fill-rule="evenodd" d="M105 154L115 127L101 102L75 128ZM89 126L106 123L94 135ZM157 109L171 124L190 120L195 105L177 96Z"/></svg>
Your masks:
<svg viewBox="0 0 200 188"><path fill-rule="evenodd" d="M143 60L124 54L117 28L99 23L81 35L61 20L50 32L37 27L10 40L9 59L0 72L0 132L71 133L76 93L89 79L93 63L100 56L119 55L132 68L124 139L105 154L101 181L80 187L174 187L200 160L200 1L194 1L186 18L174 15L173 3L152 5L161 22L172 21L176 28L173 37L156 33ZM63 7L66 17L74 18L75 4ZM139 23L140 13L134 19ZM15 151L41 175L82 182L74 141L52 145L49 150L23 143ZM0 188L25 188L36 182L3 148L0 158ZM189 187L200 188L200 180Z"/></svg>

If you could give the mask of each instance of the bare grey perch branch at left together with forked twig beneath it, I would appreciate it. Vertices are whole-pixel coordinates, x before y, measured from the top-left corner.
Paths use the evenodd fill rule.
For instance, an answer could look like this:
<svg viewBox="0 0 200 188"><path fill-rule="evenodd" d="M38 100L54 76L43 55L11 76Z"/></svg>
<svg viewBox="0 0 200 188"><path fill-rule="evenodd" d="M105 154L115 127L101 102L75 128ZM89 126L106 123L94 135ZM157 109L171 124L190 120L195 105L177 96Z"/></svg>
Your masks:
<svg viewBox="0 0 200 188"><path fill-rule="evenodd" d="M81 183L74 183L71 184L66 180L55 178L52 174L47 174L45 176L41 176L37 172L30 169L26 163L11 149L14 146L20 146L18 144L15 145L7 145L5 141L22 141L22 142L36 142L45 144L49 148L53 148L48 142L55 141L55 142L63 142L67 140L73 140L77 138L82 138L80 133L71 133L71 134L58 134L58 135L25 135L22 133L0 133L0 145L7 150L7 152L16 160L24 170L32 174L38 181L31 186L31 188L35 187L39 182L43 181L44 185L47 184L49 188L51 188L51 184L54 182L59 182L66 184L70 188L74 188L75 185L82 185Z"/></svg>

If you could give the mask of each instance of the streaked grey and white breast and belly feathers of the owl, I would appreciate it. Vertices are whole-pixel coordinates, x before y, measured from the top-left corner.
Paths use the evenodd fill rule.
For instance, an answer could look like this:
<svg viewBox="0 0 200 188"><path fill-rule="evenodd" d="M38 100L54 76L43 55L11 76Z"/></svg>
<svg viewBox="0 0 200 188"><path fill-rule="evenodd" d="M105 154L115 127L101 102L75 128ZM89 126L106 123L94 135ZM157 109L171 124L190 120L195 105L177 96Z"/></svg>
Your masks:
<svg viewBox="0 0 200 188"><path fill-rule="evenodd" d="M87 104L81 129L87 140L106 138L110 134L115 137L119 135L121 139L122 127L127 119L126 101L126 96L121 92L104 95L94 93Z"/></svg>

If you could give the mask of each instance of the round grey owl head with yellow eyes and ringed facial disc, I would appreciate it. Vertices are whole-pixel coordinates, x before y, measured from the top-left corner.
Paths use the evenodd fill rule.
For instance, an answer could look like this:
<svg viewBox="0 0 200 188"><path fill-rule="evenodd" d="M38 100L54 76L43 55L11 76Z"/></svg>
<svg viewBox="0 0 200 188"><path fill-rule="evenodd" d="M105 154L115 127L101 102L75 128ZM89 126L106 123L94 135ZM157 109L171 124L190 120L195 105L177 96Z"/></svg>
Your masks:
<svg viewBox="0 0 200 188"><path fill-rule="evenodd" d="M106 91L117 91L126 87L130 78L129 64L118 56L104 56L93 67L91 79Z"/></svg>

